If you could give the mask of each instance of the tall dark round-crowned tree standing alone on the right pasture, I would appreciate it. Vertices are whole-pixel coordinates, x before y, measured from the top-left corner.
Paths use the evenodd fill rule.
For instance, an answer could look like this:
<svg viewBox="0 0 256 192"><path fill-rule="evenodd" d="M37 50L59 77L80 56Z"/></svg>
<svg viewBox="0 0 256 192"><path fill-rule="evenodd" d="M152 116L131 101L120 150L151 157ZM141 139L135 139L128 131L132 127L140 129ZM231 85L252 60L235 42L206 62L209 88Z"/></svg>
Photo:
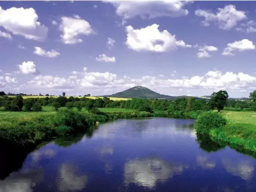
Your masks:
<svg viewBox="0 0 256 192"><path fill-rule="evenodd" d="M209 100L209 106L211 109L214 109L215 107L218 109L218 112L220 110L224 109L224 106L227 105L227 99L228 99L228 93L224 90L220 90L219 92L214 92L211 95L211 99Z"/></svg>

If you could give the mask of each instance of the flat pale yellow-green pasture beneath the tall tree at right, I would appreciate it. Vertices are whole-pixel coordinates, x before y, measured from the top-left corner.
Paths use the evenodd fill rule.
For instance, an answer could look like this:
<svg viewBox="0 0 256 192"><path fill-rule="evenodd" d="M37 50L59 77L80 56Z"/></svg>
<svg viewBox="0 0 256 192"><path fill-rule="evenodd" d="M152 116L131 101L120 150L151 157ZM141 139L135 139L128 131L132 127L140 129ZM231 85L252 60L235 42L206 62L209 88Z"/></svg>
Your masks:
<svg viewBox="0 0 256 192"><path fill-rule="evenodd" d="M256 112L223 111L221 112L221 115L232 123L256 124Z"/></svg>

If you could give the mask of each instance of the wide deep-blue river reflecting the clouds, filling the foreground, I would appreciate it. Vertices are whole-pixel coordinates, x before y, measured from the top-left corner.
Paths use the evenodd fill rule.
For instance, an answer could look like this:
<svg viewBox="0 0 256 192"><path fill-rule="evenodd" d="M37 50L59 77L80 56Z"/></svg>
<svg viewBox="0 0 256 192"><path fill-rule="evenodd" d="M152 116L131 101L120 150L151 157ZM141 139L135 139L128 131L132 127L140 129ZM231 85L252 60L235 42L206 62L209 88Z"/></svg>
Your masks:
<svg viewBox="0 0 256 192"><path fill-rule="evenodd" d="M192 126L182 119L118 120L26 157L13 151L1 157L0 171L24 162L0 181L0 192L256 191L256 159L197 138Z"/></svg>

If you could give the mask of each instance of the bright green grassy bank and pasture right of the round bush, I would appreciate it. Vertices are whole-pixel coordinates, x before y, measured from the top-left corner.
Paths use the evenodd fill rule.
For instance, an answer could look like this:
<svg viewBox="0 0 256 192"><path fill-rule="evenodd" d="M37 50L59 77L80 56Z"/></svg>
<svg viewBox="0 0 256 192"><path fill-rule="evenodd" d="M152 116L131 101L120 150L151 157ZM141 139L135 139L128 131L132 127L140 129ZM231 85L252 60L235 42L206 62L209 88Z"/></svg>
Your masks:
<svg viewBox="0 0 256 192"><path fill-rule="evenodd" d="M227 125L212 128L209 135L217 140L256 151L256 112L227 111L221 112L221 115L227 119Z"/></svg>

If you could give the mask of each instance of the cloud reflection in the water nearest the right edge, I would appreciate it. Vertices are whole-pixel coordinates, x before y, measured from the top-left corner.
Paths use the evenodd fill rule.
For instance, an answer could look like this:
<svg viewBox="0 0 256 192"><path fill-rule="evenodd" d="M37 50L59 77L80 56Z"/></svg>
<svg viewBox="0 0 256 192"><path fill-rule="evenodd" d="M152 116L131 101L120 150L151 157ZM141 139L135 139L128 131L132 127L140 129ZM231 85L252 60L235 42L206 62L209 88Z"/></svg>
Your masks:
<svg viewBox="0 0 256 192"><path fill-rule="evenodd" d="M252 179L254 173L254 166L250 161L245 160L233 160L231 158L222 159L223 167L227 172L233 175L239 176L244 180Z"/></svg>

